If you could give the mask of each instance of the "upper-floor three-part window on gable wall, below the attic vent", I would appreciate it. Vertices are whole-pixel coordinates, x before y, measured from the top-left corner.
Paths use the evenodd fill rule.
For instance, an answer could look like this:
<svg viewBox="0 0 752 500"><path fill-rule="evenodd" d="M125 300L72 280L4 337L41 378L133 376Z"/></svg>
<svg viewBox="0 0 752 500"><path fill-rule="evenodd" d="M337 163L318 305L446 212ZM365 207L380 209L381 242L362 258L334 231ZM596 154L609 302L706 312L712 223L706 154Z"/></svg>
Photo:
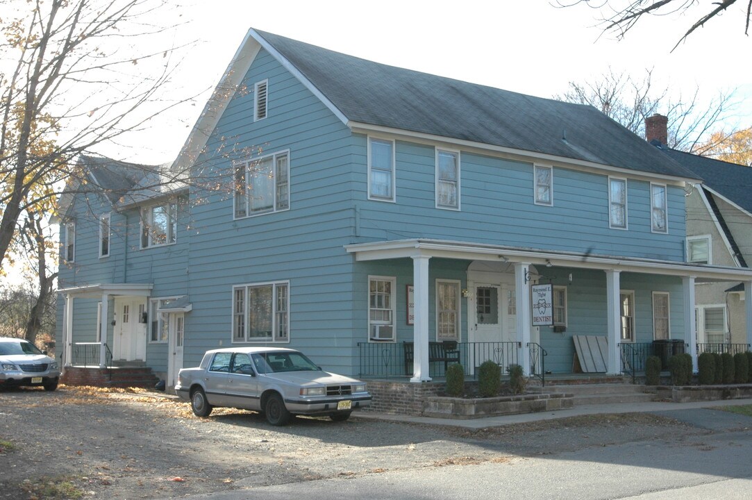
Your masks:
<svg viewBox="0 0 752 500"><path fill-rule="evenodd" d="M235 217L290 208L290 153L235 165Z"/></svg>

